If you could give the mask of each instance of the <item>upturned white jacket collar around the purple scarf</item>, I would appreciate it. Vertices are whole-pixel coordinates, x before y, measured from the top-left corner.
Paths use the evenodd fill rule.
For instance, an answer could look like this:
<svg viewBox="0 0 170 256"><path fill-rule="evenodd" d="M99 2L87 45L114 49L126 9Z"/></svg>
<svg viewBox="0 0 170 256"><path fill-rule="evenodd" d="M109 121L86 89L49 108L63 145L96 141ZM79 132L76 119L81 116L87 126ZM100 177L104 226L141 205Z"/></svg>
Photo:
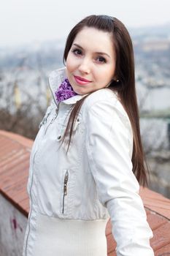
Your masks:
<svg viewBox="0 0 170 256"><path fill-rule="evenodd" d="M66 67L62 67L61 69L55 69L53 70L48 78L49 81L49 86L50 86L50 90L53 94L53 99L56 103L56 105L58 105L57 100L55 99L55 91L57 91L58 87L61 85L61 83L63 82L63 80L66 78ZM87 94L77 94L69 99L65 99L62 102L64 104L75 104L78 100L82 99L83 97L85 97L85 95Z"/></svg>

